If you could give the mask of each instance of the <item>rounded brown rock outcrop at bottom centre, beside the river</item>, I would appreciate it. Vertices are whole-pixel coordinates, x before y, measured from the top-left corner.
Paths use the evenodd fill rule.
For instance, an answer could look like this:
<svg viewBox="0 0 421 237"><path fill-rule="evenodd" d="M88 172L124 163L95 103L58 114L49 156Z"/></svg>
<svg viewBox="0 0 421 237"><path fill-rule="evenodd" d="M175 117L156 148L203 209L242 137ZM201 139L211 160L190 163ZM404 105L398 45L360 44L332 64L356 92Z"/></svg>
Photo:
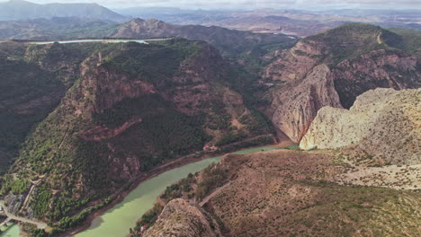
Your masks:
<svg viewBox="0 0 421 237"><path fill-rule="evenodd" d="M217 237L219 224L201 207L177 198L170 201L144 237Z"/></svg>

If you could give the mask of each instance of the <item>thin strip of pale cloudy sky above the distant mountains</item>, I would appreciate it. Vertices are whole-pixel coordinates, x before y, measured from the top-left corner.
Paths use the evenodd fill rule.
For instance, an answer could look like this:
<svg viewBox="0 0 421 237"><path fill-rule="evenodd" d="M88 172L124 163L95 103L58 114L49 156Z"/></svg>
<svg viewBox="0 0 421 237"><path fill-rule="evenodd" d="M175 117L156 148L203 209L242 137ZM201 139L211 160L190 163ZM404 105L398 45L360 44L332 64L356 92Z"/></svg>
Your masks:
<svg viewBox="0 0 421 237"><path fill-rule="evenodd" d="M0 0L5 1L5 0ZM180 8L380 8L421 9L421 0L28 0L33 3L97 3L121 8L130 6L176 6Z"/></svg>

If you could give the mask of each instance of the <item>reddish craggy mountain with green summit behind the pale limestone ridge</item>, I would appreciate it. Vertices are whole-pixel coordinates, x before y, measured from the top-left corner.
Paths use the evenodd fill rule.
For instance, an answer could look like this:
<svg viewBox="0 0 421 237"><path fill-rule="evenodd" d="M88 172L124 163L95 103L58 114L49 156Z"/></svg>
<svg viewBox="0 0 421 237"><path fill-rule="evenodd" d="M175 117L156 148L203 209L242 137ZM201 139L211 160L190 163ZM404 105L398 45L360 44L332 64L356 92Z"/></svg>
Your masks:
<svg viewBox="0 0 421 237"><path fill-rule="evenodd" d="M267 110L274 126L300 143L322 107L350 108L358 95L377 87L419 87L420 45L408 39L377 26L347 23L279 52L263 72L274 84Z"/></svg>

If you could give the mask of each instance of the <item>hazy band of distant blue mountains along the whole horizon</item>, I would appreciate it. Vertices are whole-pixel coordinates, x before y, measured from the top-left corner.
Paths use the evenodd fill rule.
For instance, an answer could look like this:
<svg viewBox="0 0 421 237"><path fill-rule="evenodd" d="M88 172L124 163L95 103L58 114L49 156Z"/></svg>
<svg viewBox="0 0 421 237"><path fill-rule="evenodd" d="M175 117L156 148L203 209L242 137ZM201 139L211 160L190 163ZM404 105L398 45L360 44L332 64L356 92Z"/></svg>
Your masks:
<svg viewBox="0 0 421 237"><path fill-rule="evenodd" d="M0 3L0 21L19 21L18 28L26 27L39 31L51 27L40 22L22 22L53 17L101 20L103 22L128 22L132 18L149 19L187 25L220 26L239 31L288 33L305 37L327 31L344 22L364 22L384 28L400 27L421 30L421 10L326 10L319 12L303 10L255 9L249 11L184 10L174 7L130 7L114 12L99 4L32 4L23 0ZM4 22L3 22L4 24ZM14 26L16 26L16 22ZM28 27L28 25L32 26ZM71 25L70 27L72 27ZM63 27L62 25L59 27ZM47 28L53 31L56 28ZM66 27L64 27L66 28ZM1 33L0 36L4 35ZM27 34L16 37L24 37ZM57 35L57 33L56 33ZM83 36L92 36L83 35ZM3 36L2 36L3 37ZM8 34L8 37L13 35ZM4 37L3 37L4 38Z"/></svg>

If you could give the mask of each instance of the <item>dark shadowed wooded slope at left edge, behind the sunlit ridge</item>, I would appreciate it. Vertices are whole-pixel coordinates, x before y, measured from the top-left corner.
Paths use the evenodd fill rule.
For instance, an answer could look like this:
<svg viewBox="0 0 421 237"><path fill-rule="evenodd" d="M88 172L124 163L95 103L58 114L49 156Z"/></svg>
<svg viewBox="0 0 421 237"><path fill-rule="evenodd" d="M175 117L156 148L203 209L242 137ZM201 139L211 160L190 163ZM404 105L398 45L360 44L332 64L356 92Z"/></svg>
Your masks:
<svg viewBox="0 0 421 237"><path fill-rule="evenodd" d="M40 100L47 92L63 91L62 84L50 72L27 62L22 55L4 52L9 47L13 48L0 45L0 156L2 153L16 155L31 127L45 118L58 102L52 93L51 101L31 110L31 101ZM25 110L26 106L28 109ZM5 171L7 166L8 159L4 157L0 162L0 172Z"/></svg>

